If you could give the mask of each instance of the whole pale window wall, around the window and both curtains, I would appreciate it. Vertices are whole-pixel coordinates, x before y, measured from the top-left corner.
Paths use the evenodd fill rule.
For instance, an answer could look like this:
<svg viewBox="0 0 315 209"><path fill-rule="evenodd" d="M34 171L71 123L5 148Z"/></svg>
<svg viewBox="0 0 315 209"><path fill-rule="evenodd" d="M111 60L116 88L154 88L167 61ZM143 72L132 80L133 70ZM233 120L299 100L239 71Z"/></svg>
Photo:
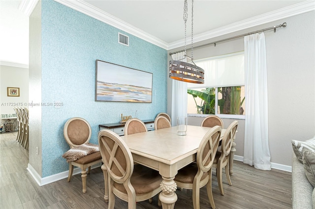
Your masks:
<svg viewBox="0 0 315 209"><path fill-rule="evenodd" d="M307 140L315 135L315 11L288 17L251 29L223 35L194 46L287 23L286 28L265 31L268 77L268 127L272 165L291 166L292 139ZM181 50L177 48L169 52ZM244 39L238 38L194 49L194 59L244 51ZM190 52L187 52L190 55ZM170 59L170 56L169 56ZM168 79L168 114L171 113L171 79ZM189 117L190 124L202 119ZM228 123L230 119L224 120ZM237 134L236 155L244 155L244 127ZM278 165L279 164L279 165Z"/></svg>

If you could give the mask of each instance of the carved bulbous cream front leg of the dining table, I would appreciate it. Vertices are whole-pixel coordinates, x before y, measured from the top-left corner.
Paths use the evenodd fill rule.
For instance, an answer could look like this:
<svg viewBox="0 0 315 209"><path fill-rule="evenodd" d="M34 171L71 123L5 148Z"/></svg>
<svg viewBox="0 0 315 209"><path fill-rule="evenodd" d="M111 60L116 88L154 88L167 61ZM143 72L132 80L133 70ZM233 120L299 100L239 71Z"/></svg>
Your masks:
<svg viewBox="0 0 315 209"><path fill-rule="evenodd" d="M162 177L162 182L160 183L161 192L159 194L159 200L162 204L162 209L174 209L175 202L177 201L177 195L175 193L177 185L174 178Z"/></svg>

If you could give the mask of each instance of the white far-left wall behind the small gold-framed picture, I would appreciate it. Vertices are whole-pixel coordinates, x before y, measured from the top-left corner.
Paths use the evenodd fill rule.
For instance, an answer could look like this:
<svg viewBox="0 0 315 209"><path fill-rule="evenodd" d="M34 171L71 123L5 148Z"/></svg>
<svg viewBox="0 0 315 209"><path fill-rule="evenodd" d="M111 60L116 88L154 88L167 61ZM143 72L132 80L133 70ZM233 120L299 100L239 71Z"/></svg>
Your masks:
<svg viewBox="0 0 315 209"><path fill-rule="evenodd" d="M7 96L7 87L20 88L20 96ZM29 69L0 65L0 114L15 114L12 104L29 103Z"/></svg>

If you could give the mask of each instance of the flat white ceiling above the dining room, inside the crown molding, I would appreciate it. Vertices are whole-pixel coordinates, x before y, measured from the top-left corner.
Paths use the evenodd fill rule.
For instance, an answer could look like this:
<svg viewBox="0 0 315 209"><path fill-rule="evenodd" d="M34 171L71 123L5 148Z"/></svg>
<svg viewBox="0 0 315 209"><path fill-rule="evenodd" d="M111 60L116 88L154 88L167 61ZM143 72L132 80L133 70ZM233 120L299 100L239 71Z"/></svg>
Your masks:
<svg viewBox="0 0 315 209"><path fill-rule="evenodd" d="M166 43L185 37L184 0L85 0L124 22ZM193 34L299 3L301 0L194 0ZM191 35L191 0L188 0L187 36Z"/></svg>

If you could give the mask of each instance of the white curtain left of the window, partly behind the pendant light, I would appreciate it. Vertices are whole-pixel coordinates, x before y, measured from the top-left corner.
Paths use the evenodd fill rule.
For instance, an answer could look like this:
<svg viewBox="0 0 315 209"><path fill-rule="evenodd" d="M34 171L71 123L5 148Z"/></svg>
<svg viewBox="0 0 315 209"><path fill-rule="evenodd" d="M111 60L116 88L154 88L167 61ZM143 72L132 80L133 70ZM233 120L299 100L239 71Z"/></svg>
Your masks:
<svg viewBox="0 0 315 209"><path fill-rule="evenodd" d="M187 61L185 52L172 55L173 60ZM176 126L177 117L187 117L187 83L172 80L172 126Z"/></svg>

